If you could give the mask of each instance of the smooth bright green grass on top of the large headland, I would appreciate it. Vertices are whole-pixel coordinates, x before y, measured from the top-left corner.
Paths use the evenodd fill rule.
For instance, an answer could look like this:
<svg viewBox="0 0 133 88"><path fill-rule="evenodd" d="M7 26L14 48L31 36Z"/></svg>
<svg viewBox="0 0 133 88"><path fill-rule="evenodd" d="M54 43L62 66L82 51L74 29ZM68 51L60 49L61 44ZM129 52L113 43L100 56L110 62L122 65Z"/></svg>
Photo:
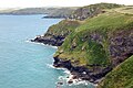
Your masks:
<svg viewBox="0 0 133 88"><path fill-rule="evenodd" d="M119 29L129 29L130 23L133 22L133 15L127 15L119 12L106 12L99 14L92 19L88 19L86 22L78 28L76 32L80 31L115 31Z"/></svg>

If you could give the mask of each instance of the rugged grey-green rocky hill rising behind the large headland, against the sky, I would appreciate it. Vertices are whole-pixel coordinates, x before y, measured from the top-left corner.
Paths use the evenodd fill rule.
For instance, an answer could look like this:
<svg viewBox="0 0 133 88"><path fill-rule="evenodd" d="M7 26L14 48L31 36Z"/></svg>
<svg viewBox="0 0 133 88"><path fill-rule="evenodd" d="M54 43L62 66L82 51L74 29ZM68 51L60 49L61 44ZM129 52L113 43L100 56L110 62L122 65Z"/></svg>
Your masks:
<svg viewBox="0 0 133 88"><path fill-rule="evenodd" d="M124 7L124 6L115 4L115 3L91 4L91 6L79 8L78 10L73 11L73 13L70 15L70 19L84 20L88 18L92 18L99 13L104 13L105 9L114 9L120 7Z"/></svg>

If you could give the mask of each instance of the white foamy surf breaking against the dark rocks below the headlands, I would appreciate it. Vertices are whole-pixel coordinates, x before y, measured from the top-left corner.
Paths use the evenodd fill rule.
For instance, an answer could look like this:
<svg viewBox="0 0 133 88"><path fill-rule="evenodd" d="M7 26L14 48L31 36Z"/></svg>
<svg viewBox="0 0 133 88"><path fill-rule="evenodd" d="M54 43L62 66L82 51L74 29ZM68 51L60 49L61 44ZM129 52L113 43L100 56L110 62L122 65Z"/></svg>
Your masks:
<svg viewBox="0 0 133 88"><path fill-rule="evenodd" d="M43 44L43 43L38 43L38 42L31 42L30 40L28 40L25 42L33 43L33 44L40 44L40 45L52 47L52 48L58 48L58 46L52 46L52 45L49 45L49 44ZM71 70L69 70L65 67L55 67L54 66L54 59L53 59L53 63L51 65L48 64L47 66L49 66L50 68L53 68L53 69L63 70L63 73L65 74L64 77L62 77L62 76L59 77L59 81L57 81L57 85L60 85L60 86L62 86L62 84L63 85L65 84L65 85L69 85L69 86L73 86L73 85L85 85L85 86L89 86L89 85L92 85L92 86L94 86L94 88L98 86L98 84L90 82L89 80L83 80L80 77L79 78L74 78L75 75L73 75L73 73L71 73Z"/></svg>

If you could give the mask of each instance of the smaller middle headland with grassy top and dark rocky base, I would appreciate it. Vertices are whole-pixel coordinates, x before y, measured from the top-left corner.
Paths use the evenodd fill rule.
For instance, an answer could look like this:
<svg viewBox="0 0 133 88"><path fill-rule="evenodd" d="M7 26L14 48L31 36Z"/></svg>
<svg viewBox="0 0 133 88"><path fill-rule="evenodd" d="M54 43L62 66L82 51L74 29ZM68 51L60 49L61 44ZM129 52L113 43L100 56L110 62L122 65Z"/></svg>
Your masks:
<svg viewBox="0 0 133 88"><path fill-rule="evenodd" d="M37 36L32 42L39 42L53 46L61 46L64 38L72 33L81 23L79 21L63 20L58 24L49 28L48 32L42 36Z"/></svg>

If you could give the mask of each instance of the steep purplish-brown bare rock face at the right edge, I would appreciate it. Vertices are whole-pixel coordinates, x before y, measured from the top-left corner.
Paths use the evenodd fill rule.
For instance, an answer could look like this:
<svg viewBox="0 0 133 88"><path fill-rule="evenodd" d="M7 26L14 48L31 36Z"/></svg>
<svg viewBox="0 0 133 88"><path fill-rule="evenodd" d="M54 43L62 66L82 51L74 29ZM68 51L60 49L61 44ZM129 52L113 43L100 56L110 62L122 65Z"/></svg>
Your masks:
<svg viewBox="0 0 133 88"><path fill-rule="evenodd" d="M114 33L109 50L114 66L133 55L133 30Z"/></svg>

